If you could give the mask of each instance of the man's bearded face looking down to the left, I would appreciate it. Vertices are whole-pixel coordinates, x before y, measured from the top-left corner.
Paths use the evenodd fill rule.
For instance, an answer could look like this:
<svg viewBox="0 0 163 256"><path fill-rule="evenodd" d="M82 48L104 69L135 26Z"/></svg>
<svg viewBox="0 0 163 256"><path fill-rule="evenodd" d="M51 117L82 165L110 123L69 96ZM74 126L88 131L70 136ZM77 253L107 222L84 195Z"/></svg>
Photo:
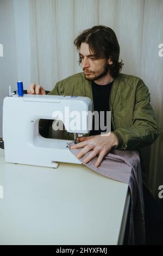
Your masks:
<svg viewBox="0 0 163 256"><path fill-rule="evenodd" d="M82 59L81 66L87 80L95 81L109 74L109 64L112 64L111 60L96 58L93 52L90 52L89 45L85 42L82 42L80 46L79 55Z"/></svg>

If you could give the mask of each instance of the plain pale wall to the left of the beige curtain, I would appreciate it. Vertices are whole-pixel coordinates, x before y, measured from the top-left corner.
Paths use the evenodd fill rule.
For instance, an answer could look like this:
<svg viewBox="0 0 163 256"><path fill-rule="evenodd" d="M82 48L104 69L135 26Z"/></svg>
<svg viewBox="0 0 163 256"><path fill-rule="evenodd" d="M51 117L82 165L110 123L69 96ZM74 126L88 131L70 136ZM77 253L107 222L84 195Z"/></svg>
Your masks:
<svg viewBox="0 0 163 256"><path fill-rule="evenodd" d="M30 83L30 45L28 0L0 1L0 137L2 137L2 105L9 86L16 90L17 81Z"/></svg>

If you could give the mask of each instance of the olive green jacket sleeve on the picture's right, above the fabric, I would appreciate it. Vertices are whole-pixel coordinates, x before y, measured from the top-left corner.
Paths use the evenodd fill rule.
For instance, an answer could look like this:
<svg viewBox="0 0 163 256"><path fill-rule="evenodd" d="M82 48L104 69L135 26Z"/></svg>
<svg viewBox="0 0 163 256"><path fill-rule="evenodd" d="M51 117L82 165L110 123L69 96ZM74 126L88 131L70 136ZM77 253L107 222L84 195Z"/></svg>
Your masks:
<svg viewBox="0 0 163 256"><path fill-rule="evenodd" d="M150 94L142 80L137 84L133 121L130 127L114 131L118 139L117 149L139 149L152 144L159 136Z"/></svg>

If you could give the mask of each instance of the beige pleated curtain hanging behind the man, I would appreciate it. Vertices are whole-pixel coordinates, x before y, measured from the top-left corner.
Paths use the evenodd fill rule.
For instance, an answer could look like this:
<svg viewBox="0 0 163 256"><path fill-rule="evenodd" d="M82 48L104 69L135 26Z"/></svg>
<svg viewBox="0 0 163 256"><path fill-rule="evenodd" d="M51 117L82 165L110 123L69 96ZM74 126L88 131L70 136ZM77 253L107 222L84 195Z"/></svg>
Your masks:
<svg viewBox="0 0 163 256"><path fill-rule="evenodd" d="M162 0L29 0L32 81L51 90L54 84L81 72L73 40L83 29L114 29L124 62L122 72L139 76L151 92L161 135L146 149L144 180L155 198L163 185L163 43ZM148 152L148 154L147 154Z"/></svg>

